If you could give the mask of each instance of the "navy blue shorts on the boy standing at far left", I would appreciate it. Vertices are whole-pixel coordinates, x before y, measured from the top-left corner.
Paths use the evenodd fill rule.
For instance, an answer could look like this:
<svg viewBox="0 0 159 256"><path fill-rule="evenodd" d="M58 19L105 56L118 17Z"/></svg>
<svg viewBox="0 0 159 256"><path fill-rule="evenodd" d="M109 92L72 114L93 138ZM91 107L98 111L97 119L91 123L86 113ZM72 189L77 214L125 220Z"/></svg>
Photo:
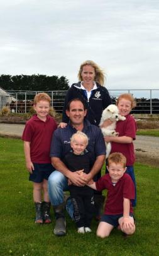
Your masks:
<svg viewBox="0 0 159 256"><path fill-rule="evenodd" d="M48 177L50 174L55 171L52 164L35 164L34 165L34 171L31 174L30 173L30 181L41 183L43 180L48 180Z"/></svg>

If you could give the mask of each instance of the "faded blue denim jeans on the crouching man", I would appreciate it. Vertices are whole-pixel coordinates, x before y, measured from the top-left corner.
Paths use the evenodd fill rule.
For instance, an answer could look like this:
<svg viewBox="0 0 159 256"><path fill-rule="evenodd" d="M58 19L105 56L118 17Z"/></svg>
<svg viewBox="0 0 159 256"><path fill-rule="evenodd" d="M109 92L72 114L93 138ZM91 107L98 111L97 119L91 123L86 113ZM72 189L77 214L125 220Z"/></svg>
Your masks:
<svg viewBox="0 0 159 256"><path fill-rule="evenodd" d="M67 183L67 178L60 173L60 171L53 171L48 178L48 195L50 197L51 204L53 206L62 204L64 201L63 191L68 190L69 186ZM67 200L66 210L73 219L74 207L70 198Z"/></svg>

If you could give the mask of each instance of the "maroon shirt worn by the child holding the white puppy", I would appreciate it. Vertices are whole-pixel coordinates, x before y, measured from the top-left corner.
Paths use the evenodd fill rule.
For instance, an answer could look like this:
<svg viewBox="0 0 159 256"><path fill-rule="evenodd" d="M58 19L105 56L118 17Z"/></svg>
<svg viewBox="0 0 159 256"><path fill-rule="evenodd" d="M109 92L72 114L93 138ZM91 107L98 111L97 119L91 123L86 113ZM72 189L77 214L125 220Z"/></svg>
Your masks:
<svg viewBox="0 0 159 256"><path fill-rule="evenodd" d="M119 137L128 136L136 139L136 122L134 121L133 116L126 116L126 120L118 121L116 123L116 131L119 133ZM126 157L126 166L133 166L135 161L134 155L134 145L131 143L117 143L111 142L111 153L120 152Z"/></svg>

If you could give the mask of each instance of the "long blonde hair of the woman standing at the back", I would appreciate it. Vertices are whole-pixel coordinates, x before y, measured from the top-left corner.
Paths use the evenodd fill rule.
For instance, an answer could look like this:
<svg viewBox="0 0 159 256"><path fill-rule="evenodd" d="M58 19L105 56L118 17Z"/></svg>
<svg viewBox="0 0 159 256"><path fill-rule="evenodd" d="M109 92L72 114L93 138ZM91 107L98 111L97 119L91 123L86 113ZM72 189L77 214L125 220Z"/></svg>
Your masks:
<svg viewBox="0 0 159 256"><path fill-rule="evenodd" d="M101 70L101 68L94 61L84 61L84 63L82 63L80 65L80 69L79 69L79 73L78 73L79 81L82 81L81 73L82 73L83 67L86 65L90 65L90 66L92 66L92 68L94 68L94 71L95 71L94 80L96 80L96 82L98 82L100 85L104 85L104 82L106 80L104 71Z"/></svg>

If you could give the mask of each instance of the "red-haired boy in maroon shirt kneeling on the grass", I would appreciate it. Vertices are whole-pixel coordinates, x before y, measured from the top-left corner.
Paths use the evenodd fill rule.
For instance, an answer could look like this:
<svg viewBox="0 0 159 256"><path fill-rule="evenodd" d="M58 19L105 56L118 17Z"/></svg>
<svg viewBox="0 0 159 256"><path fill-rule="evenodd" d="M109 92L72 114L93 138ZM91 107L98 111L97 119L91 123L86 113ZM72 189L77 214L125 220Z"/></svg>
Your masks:
<svg viewBox="0 0 159 256"><path fill-rule="evenodd" d="M134 184L131 177L125 173L126 157L121 153L112 153L108 157L107 169L109 173L88 185L94 190L108 190L97 236L101 238L109 236L114 227L118 227L126 235L132 235L135 225L130 199L134 199Z"/></svg>

